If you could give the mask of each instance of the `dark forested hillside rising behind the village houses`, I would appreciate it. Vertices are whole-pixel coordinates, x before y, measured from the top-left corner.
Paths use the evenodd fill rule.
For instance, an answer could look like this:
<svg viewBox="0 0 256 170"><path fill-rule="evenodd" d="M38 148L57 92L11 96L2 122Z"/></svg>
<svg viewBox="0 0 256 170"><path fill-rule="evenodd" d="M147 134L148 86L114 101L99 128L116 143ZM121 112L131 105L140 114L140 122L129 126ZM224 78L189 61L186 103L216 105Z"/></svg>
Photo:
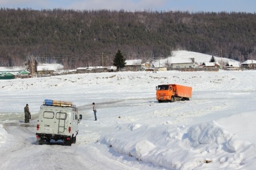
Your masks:
<svg viewBox="0 0 256 170"><path fill-rule="evenodd" d="M256 14L181 11L0 10L0 66L33 55L67 68L167 57L183 49L239 61L255 59Z"/></svg>

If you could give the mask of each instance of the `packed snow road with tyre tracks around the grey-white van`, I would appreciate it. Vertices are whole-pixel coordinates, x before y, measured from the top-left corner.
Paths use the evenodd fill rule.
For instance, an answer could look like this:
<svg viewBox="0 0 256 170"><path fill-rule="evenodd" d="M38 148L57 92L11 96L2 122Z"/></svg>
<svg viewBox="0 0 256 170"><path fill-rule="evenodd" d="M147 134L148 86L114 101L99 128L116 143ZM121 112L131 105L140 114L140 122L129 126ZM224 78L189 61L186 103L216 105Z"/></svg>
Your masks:
<svg viewBox="0 0 256 170"><path fill-rule="evenodd" d="M104 156L98 148L79 142L64 146L53 140L45 145L36 143L36 119L4 124L8 133L6 146L1 148L1 169L133 169Z"/></svg>

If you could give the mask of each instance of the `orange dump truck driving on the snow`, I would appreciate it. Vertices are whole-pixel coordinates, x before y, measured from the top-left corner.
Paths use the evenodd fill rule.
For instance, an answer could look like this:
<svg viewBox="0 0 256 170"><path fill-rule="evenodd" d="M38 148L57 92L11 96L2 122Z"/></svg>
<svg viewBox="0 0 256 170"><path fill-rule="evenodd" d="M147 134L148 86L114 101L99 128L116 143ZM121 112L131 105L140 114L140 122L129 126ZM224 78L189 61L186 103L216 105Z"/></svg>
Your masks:
<svg viewBox="0 0 256 170"><path fill-rule="evenodd" d="M192 87L179 84L162 84L156 86L156 99L158 102L174 102L178 100L190 100Z"/></svg>

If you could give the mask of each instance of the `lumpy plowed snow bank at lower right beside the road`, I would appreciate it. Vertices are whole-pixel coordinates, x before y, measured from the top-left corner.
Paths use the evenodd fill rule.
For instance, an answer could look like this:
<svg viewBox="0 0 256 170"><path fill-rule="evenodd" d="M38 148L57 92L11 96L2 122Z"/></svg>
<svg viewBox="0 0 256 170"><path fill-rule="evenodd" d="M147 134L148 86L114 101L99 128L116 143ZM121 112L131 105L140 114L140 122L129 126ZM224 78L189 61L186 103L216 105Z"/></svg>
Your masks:
<svg viewBox="0 0 256 170"><path fill-rule="evenodd" d="M174 169L238 167L256 154L254 144L240 140L215 121L187 128L124 124L103 136L100 143L117 153Z"/></svg>

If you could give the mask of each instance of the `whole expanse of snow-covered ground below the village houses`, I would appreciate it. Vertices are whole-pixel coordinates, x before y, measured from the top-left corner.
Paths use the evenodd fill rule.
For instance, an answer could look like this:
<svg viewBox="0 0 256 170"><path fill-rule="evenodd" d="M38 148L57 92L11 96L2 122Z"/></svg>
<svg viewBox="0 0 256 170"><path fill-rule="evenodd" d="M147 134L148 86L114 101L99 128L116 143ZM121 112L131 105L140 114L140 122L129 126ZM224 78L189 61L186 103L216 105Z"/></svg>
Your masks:
<svg viewBox="0 0 256 170"><path fill-rule="evenodd" d="M0 169L256 169L255 80L256 71L1 80ZM190 101L158 103L155 86L167 83L191 86ZM83 115L72 146L37 145L44 99L72 101Z"/></svg>

